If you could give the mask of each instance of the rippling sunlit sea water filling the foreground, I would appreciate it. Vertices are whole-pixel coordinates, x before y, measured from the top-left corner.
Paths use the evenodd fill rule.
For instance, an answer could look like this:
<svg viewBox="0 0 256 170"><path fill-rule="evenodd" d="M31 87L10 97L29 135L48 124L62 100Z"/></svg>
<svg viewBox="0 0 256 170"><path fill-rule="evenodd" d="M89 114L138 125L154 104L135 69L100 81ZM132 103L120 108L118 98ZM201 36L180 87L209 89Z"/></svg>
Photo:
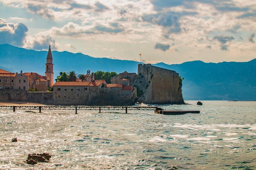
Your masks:
<svg viewBox="0 0 256 170"><path fill-rule="evenodd" d="M0 169L256 170L256 101L201 102L159 105L200 110L184 115L0 110ZM33 152L52 158L29 165Z"/></svg>

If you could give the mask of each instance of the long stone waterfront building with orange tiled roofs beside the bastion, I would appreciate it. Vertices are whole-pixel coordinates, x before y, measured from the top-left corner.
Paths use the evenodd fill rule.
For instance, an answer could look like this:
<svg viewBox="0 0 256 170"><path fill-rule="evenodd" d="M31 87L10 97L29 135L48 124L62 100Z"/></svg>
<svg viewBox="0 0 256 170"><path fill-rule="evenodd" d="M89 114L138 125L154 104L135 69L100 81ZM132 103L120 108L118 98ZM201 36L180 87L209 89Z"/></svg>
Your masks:
<svg viewBox="0 0 256 170"><path fill-rule="evenodd" d="M121 84L93 82L56 82L53 100L56 105L133 105L136 89Z"/></svg>

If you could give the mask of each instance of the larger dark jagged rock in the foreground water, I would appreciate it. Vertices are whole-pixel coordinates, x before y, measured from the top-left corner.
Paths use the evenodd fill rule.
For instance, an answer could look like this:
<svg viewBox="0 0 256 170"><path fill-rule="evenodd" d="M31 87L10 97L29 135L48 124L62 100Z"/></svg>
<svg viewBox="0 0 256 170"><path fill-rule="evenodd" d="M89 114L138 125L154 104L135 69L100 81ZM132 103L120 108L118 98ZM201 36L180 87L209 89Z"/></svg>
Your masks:
<svg viewBox="0 0 256 170"><path fill-rule="evenodd" d="M52 156L48 153L43 153L43 154L32 153L32 154L28 154L26 162L27 164L34 165L38 162L49 162L51 157Z"/></svg>

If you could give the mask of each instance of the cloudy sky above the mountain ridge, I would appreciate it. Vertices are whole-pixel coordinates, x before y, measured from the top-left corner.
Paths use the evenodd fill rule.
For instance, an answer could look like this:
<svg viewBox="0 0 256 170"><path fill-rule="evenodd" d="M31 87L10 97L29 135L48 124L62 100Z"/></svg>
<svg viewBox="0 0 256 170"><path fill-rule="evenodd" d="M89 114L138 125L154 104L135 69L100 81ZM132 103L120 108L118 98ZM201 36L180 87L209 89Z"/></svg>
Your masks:
<svg viewBox="0 0 256 170"><path fill-rule="evenodd" d="M0 44L178 64L256 58L255 0L0 0Z"/></svg>

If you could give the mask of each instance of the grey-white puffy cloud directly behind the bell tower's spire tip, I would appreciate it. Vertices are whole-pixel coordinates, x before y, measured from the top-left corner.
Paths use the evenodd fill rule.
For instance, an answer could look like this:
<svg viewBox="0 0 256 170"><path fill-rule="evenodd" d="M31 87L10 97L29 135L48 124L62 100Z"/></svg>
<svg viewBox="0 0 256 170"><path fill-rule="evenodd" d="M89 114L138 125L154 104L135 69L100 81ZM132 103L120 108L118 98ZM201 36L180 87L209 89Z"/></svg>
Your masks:
<svg viewBox="0 0 256 170"><path fill-rule="evenodd" d="M24 45L27 49L34 50L47 50L51 45L51 49L58 49L59 45L55 42L55 40L51 36L28 36L26 39L26 44Z"/></svg>

